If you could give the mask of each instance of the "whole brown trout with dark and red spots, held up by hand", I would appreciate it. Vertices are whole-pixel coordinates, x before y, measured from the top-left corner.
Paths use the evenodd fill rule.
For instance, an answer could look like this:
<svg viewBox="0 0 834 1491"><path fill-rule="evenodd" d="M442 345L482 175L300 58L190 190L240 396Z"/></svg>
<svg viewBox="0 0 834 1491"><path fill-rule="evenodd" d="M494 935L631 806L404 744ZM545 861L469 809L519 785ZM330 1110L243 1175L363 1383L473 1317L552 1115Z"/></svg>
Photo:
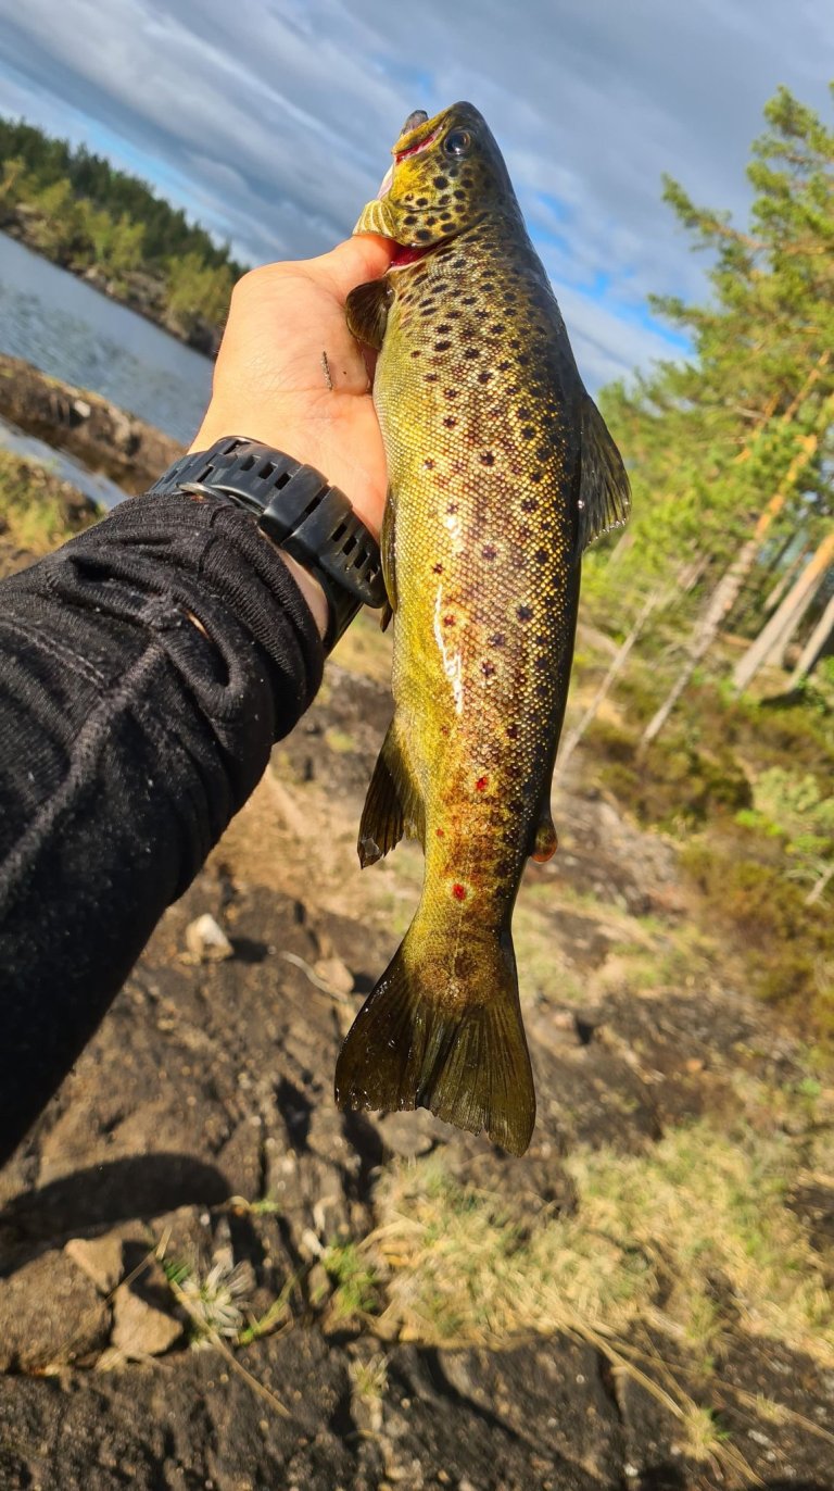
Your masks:
<svg viewBox="0 0 834 1491"><path fill-rule="evenodd" d="M341 1108L426 1106L523 1154L536 1099L511 917L550 811L587 543L628 480L588 398L500 151L468 103L410 115L354 228L399 249L347 301L378 350L395 716L360 863L402 835L420 905L341 1050Z"/></svg>

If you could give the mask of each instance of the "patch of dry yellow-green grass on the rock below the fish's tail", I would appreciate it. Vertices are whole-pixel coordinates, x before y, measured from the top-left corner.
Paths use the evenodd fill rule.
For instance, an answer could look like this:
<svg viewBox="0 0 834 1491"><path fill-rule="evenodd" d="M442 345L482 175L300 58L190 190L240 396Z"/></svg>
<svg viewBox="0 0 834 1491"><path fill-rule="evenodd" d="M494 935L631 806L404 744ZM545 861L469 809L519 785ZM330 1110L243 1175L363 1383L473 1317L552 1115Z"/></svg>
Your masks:
<svg viewBox="0 0 834 1491"><path fill-rule="evenodd" d="M740 1318L834 1366L834 1302L786 1205L789 1141L698 1121L646 1154L581 1150L567 1169L575 1214L535 1221L433 1156L393 1169L380 1185L387 1323L410 1339L496 1345L578 1324L626 1334L642 1320L707 1363Z"/></svg>

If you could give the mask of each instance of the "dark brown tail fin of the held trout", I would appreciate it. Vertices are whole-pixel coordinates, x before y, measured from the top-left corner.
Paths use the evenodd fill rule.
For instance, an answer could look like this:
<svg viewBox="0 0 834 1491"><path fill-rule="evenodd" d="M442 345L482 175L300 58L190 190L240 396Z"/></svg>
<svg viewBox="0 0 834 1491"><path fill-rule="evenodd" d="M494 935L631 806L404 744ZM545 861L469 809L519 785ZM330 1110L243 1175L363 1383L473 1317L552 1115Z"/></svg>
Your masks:
<svg viewBox="0 0 834 1491"><path fill-rule="evenodd" d="M478 944L472 997L420 965L417 923L365 1000L337 1063L340 1108L429 1108L524 1154L536 1121L533 1074L509 935Z"/></svg>

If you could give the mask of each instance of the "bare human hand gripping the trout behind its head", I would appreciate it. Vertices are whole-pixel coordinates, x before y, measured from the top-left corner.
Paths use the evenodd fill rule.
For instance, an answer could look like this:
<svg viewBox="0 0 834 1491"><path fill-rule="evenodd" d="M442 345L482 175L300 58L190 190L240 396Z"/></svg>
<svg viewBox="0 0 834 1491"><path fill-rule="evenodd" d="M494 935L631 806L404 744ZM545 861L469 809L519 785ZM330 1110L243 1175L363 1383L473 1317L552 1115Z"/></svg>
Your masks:
<svg viewBox="0 0 834 1491"><path fill-rule="evenodd" d="M377 535L386 455L344 303L356 285L386 273L393 252L386 239L362 236L317 259L244 274L232 294L211 403L191 447L206 450L223 435L262 440L317 467Z"/></svg>

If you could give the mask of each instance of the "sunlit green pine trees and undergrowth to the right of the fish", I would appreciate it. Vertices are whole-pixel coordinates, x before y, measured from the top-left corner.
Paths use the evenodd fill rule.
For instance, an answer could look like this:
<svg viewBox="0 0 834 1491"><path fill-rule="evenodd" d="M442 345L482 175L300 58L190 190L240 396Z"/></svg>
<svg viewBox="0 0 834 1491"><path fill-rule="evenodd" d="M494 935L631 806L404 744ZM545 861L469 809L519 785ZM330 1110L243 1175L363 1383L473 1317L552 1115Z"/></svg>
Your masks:
<svg viewBox="0 0 834 1491"><path fill-rule="evenodd" d="M666 182L710 297L657 300L691 353L600 400L633 516L585 562L617 647L557 774L596 750L642 822L682 836L748 986L830 1033L834 133L786 89L765 122L746 225Z"/></svg>

